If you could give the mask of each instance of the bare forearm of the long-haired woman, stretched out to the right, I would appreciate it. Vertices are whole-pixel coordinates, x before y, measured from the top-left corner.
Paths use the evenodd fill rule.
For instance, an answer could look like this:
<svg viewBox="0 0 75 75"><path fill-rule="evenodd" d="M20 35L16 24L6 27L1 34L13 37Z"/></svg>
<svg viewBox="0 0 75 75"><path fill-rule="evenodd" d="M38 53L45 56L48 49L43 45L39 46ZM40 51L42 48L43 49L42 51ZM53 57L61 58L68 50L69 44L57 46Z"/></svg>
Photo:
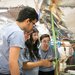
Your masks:
<svg viewBox="0 0 75 75"><path fill-rule="evenodd" d="M23 63L23 69L32 69L41 66L41 61Z"/></svg>

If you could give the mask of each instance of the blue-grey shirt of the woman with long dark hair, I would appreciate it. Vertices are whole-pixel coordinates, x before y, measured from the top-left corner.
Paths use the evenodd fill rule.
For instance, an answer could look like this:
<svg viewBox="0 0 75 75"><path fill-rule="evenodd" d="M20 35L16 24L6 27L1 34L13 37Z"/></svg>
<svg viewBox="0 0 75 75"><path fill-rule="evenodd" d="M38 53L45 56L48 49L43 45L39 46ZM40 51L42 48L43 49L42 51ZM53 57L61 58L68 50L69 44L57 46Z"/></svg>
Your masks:
<svg viewBox="0 0 75 75"><path fill-rule="evenodd" d="M21 50L20 52L20 59L19 59L19 63L20 63L20 68L21 68L21 73L22 75L38 75L38 71L39 71L39 67L30 69L30 70L23 70L23 62L27 63L27 62L36 62L37 60L32 61L29 55L29 51L28 49Z"/></svg>

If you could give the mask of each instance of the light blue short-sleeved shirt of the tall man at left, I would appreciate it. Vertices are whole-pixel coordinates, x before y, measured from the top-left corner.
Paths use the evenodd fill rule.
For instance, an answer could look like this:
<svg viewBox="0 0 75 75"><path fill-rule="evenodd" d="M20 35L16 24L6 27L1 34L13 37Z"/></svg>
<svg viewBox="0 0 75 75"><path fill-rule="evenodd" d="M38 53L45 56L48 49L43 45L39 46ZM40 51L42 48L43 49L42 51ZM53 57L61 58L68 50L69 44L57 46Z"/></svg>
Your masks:
<svg viewBox="0 0 75 75"><path fill-rule="evenodd" d="M7 23L0 29L0 73L9 74L9 48L24 48L24 33L16 23Z"/></svg>

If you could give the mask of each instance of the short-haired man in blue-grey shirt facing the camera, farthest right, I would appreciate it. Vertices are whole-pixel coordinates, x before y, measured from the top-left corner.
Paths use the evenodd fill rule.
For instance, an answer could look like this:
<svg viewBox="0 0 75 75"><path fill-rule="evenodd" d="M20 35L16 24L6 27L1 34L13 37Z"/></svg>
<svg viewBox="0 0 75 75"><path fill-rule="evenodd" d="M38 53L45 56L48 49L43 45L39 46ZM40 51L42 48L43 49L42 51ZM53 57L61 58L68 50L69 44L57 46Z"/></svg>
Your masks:
<svg viewBox="0 0 75 75"><path fill-rule="evenodd" d="M40 48L39 53L41 55L41 59L49 59L51 66L50 67L40 67L39 75L54 75L54 67L52 59L54 59L54 51L50 47L50 36L48 34L43 34L40 37ZM45 64L45 63L44 63Z"/></svg>

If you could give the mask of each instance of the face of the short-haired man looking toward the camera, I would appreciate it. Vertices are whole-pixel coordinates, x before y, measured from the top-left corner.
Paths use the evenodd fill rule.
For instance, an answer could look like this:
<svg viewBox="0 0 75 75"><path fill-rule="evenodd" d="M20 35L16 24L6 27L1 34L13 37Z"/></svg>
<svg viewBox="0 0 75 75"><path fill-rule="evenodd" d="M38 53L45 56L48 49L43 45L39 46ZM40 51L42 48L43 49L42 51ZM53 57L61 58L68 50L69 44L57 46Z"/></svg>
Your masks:
<svg viewBox="0 0 75 75"><path fill-rule="evenodd" d="M49 42L50 42L49 37L45 37L42 39L42 41L41 41L42 50L47 51L49 49Z"/></svg>

